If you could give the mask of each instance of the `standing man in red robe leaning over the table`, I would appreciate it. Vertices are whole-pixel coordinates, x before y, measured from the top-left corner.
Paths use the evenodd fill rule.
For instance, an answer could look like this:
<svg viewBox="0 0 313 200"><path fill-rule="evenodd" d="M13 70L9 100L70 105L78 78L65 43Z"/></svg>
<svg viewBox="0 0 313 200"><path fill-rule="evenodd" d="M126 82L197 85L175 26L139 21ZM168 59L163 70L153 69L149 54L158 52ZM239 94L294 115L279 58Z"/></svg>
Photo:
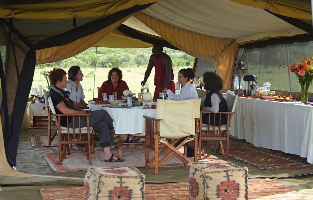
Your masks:
<svg viewBox="0 0 313 200"><path fill-rule="evenodd" d="M163 52L162 43L156 43L152 47L152 55L150 56L145 78L141 82L141 85L147 82L153 66L155 67L154 85L156 86L153 98L159 98L159 93L162 92L164 88L175 91L172 60Z"/></svg>

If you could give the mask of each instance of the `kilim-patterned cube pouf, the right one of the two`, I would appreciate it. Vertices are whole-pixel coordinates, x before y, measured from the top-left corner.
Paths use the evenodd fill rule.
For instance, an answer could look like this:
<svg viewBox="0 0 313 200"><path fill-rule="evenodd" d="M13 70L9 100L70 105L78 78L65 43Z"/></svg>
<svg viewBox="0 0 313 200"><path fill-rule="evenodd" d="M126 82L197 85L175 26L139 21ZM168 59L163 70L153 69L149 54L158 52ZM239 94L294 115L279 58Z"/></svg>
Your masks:
<svg viewBox="0 0 313 200"><path fill-rule="evenodd" d="M189 163L189 194L196 199L248 199L248 168L233 163Z"/></svg>

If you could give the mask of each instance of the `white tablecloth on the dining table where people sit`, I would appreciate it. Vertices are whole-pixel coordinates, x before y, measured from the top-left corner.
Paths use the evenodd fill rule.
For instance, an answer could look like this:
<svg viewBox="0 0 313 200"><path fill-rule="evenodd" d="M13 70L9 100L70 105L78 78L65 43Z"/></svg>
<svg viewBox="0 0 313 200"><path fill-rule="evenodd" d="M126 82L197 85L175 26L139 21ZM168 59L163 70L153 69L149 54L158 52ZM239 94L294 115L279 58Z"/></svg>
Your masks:
<svg viewBox="0 0 313 200"><path fill-rule="evenodd" d="M119 105L123 105L121 103ZM146 124L144 115L155 118L156 109L143 109L143 106L136 106L131 108L107 108L103 105L94 105L90 102L88 106L91 110L103 109L109 113L111 118L115 121L113 126L116 134L136 134L145 133Z"/></svg>

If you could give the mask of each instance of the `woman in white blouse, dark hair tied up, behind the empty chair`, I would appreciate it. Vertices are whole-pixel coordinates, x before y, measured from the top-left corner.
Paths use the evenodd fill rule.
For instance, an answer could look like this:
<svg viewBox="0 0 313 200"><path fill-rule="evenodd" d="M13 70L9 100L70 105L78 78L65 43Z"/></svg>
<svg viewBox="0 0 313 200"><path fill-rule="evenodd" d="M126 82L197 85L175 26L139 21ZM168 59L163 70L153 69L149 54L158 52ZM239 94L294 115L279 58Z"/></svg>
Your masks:
<svg viewBox="0 0 313 200"><path fill-rule="evenodd" d="M172 100L188 100L188 99L197 99L198 93L196 88L190 84L194 76L193 70L191 68L181 69L178 72L178 83L182 85L180 94L175 95L170 89L164 88L164 91L167 93L168 97L172 96Z"/></svg>

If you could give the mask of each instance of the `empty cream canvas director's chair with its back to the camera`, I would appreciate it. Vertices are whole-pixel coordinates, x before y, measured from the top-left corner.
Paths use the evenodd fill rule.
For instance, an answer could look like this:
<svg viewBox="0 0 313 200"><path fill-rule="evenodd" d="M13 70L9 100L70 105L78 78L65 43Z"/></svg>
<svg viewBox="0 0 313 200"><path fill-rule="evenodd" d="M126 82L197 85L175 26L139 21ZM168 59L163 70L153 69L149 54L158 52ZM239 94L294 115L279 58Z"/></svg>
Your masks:
<svg viewBox="0 0 313 200"><path fill-rule="evenodd" d="M187 164L191 162L187 158L187 147L194 149L194 162L198 162L200 103L201 99L157 100L156 118L144 116L146 118L146 168L154 163L154 173L158 174L159 165L172 155L175 155L187 167ZM168 142L169 140L172 141ZM182 146L184 146L185 155L179 151ZM164 148L161 152L159 152L160 147ZM149 150L154 151L152 159L149 159ZM159 161L160 156L167 151L169 153Z"/></svg>

